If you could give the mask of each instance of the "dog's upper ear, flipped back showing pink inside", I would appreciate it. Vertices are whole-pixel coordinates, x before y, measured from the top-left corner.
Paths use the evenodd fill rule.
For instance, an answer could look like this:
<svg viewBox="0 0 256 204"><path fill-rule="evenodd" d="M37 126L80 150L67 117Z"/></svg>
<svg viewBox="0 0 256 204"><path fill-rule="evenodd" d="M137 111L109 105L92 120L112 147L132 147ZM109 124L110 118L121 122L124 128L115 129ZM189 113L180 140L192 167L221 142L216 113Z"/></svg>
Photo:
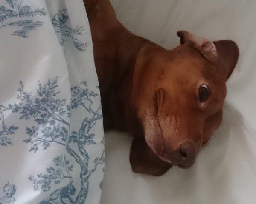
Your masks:
<svg viewBox="0 0 256 204"><path fill-rule="evenodd" d="M233 72L239 57L239 49L235 42L231 40L219 40L211 42L204 37L197 37L187 31L177 32L180 37L180 44L186 42L192 45L212 62L220 63L226 74L226 79Z"/></svg>

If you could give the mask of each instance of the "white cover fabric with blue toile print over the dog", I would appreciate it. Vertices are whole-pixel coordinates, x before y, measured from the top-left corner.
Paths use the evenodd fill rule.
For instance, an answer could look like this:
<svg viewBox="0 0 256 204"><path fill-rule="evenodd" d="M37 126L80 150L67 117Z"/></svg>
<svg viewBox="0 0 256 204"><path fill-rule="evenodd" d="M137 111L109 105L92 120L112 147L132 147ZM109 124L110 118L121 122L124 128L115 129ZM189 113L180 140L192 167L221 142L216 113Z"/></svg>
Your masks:
<svg viewBox="0 0 256 204"><path fill-rule="evenodd" d="M82 0L0 0L0 204L97 204L104 134Z"/></svg>

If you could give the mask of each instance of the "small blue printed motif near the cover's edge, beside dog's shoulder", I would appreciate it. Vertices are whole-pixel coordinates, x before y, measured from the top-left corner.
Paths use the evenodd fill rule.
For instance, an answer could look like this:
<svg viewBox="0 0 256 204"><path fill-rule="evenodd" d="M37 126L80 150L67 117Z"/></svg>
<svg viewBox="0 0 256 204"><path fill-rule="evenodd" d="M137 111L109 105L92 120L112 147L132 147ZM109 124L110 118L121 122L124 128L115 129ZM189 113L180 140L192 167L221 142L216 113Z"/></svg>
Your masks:
<svg viewBox="0 0 256 204"><path fill-rule="evenodd" d="M81 52L87 49L87 43L81 42L79 37L83 34L84 26L76 26L76 28L72 29L67 26L67 21L69 20L67 9L60 10L57 14L55 14L52 18L52 26L55 29L55 33L58 37L58 40L61 45L64 45L64 42L71 39L73 45Z"/></svg>

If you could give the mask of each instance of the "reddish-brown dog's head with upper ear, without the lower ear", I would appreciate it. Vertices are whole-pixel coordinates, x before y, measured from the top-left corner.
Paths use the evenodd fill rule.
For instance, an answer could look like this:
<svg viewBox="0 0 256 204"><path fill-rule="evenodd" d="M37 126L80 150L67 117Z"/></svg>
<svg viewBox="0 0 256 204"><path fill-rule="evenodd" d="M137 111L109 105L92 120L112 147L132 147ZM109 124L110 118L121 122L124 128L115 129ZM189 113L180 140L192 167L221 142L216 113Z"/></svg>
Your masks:
<svg viewBox="0 0 256 204"><path fill-rule="evenodd" d="M163 161L191 167L222 119L226 81L236 66L235 42L211 42L180 31L181 45L141 49L134 69L131 104L145 141Z"/></svg>

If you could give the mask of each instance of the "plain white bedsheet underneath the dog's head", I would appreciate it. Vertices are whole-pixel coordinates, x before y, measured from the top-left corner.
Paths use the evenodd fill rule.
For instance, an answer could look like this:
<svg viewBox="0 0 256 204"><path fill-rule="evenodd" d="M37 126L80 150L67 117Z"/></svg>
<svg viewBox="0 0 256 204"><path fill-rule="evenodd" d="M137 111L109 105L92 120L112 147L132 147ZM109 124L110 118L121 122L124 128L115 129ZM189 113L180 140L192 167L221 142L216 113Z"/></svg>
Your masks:
<svg viewBox="0 0 256 204"><path fill-rule="evenodd" d="M240 50L227 82L223 122L188 170L172 167L160 177L133 173L132 137L106 133L101 204L256 203L256 1L111 0L133 33L164 48L187 30L210 40L229 39Z"/></svg>

